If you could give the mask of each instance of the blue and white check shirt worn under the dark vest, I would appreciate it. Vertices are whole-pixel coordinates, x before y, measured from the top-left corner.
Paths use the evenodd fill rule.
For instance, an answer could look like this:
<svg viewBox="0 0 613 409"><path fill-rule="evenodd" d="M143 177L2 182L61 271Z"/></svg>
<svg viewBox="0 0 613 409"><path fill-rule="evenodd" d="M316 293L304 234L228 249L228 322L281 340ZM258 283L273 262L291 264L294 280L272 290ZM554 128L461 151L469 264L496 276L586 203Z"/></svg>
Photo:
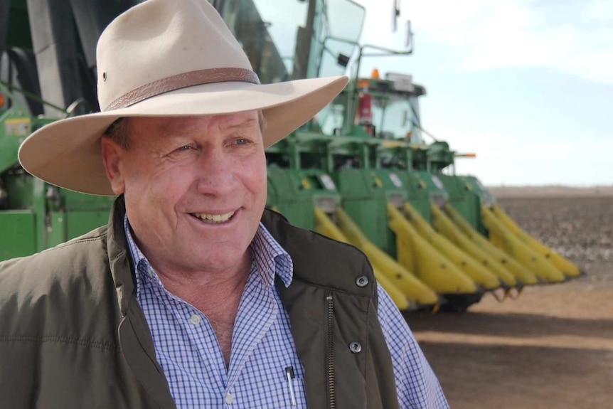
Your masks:
<svg viewBox="0 0 613 409"><path fill-rule="evenodd" d="M275 275L286 287L292 282L292 259L264 225L251 243L253 262L238 307L228 368L208 319L164 289L134 243L127 217L124 228L137 267L137 300L177 408L307 408L304 368L274 285ZM402 315L381 287L378 296L400 408L449 408ZM288 366L294 368L296 406L285 374Z"/></svg>

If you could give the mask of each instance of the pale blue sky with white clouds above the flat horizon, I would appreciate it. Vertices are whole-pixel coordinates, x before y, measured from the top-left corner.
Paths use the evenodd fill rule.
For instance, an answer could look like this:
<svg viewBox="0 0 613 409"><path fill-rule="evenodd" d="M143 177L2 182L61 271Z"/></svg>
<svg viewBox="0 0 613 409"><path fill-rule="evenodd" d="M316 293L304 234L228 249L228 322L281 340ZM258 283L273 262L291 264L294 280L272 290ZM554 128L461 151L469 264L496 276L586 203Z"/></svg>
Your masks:
<svg viewBox="0 0 613 409"><path fill-rule="evenodd" d="M362 43L389 45L391 0L366 7ZM414 51L368 58L424 85L422 127L484 184L613 184L613 1L400 0ZM426 138L427 140L427 138Z"/></svg>

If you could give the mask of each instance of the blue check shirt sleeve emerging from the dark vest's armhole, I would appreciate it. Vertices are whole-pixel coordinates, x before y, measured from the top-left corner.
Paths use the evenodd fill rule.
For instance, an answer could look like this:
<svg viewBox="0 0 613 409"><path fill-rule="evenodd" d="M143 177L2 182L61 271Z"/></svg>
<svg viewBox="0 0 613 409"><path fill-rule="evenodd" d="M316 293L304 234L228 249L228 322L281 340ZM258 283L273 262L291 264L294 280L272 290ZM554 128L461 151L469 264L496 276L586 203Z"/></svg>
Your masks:
<svg viewBox="0 0 613 409"><path fill-rule="evenodd" d="M378 317L388 343L401 409L449 409L435 373L407 322L378 285Z"/></svg>

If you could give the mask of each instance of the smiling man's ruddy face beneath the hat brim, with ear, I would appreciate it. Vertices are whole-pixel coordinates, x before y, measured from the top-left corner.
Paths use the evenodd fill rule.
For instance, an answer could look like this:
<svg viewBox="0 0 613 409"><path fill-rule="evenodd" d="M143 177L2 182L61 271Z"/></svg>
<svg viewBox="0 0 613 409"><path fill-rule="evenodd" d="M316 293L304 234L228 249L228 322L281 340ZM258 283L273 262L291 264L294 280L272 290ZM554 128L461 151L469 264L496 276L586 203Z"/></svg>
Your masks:
<svg viewBox="0 0 613 409"><path fill-rule="evenodd" d="M129 149L105 138L102 152L151 264L193 273L245 262L267 194L257 112L129 121Z"/></svg>

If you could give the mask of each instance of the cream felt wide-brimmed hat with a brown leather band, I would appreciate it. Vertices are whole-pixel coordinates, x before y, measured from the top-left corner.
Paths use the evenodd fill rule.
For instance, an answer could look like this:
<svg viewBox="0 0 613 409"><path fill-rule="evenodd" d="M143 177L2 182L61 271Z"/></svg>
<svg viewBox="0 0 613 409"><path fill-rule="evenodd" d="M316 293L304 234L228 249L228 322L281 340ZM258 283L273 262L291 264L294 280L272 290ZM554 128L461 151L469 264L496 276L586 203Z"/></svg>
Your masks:
<svg viewBox="0 0 613 409"><path fill-rule="evenodd" d="M344 76L262 85L206 0L148 0L115 18L97 45L102 112L62 119L21 144L26 171L82 193L113 195L100 137L120 117L262 110L270 147L341 92Z"/></svg>

